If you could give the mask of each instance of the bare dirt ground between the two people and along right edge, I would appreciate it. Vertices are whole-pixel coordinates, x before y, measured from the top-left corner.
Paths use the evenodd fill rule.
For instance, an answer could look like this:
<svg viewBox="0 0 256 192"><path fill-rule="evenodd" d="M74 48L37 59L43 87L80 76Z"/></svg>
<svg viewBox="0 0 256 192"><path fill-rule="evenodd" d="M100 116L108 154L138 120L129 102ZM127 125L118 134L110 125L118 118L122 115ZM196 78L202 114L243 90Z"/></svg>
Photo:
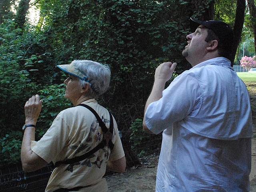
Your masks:
<svg viewBox="0 0 256 192"><path fill-rule="evenodd" d="M256 83L246 84L251 98L252 121L252 170L250 174L250 192L256 192ZM106 176L109 192L154 192L158 155L152 154L141 159L142 165L128 168L124 173Z"/></svg>

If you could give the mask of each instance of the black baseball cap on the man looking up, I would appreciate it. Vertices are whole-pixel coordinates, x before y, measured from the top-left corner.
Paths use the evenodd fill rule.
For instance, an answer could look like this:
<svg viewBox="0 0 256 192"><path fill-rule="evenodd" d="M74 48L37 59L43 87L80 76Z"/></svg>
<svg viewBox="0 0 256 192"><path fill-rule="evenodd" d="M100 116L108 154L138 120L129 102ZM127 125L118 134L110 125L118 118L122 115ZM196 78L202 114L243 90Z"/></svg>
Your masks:
<svg viewBox="0 0 256 192"><path fill-rule="evenodd" d="M218 36L222 47L232 47L232 44L234 42L234 32L228 24L218 20L200 21L195 18L190 19L193 21L191 22L191 29L193 31L195 31L196 28L200 25L206 26L207 28L213 30L213 32Z"/></svg>

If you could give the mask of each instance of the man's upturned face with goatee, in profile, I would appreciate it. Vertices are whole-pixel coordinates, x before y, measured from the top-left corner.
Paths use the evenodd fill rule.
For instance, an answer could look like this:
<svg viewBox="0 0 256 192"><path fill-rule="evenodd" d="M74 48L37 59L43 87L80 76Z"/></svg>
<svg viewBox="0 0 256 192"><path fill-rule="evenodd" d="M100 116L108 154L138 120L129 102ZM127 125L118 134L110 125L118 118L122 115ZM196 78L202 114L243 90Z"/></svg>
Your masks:
<svg viewBox="0 0 256 192"><path fill-rule="evenodd" d="M188 45L182 51L182 55L186 57L192 66L200 63L207 53L206 47L208 43L205 41L208 30L200 25L196 31L187 36Z"/></svg>

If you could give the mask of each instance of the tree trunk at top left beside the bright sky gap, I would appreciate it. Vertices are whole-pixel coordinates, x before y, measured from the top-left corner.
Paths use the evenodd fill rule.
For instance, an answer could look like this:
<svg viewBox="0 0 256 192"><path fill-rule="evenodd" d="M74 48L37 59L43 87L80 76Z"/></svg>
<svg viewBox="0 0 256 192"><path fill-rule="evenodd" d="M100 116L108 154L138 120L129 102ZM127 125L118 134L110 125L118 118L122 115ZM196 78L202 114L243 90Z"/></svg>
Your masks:
<svg viewBox="0 0 256 192"><path fill-rule="evenodd" d="M26 22L26 14L29 8L30 0L20 0L19 7L17 10L17 14L15 17L16 27L24 28L24 24Z"/></svg>

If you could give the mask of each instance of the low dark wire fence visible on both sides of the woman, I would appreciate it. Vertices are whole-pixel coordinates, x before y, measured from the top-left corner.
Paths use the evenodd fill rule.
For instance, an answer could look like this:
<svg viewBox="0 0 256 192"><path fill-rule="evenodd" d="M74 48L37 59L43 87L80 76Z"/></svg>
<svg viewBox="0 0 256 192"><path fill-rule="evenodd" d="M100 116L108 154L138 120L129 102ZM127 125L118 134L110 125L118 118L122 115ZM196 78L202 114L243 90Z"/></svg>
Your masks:
<svg viewBox="0 0 256 192"><path fill-rule="evenodd" d="M123 132L130 136L130 132ZM138 138L122 138L126 161L131 165L140 163L140 158L160 153L162 134L142 134ZM133 156L133 157L132 157ZM128 166L128 167L130 167ZM21 164L0 169L0 192L44 192L50 178L52 165L26 173Z"/></svg>

